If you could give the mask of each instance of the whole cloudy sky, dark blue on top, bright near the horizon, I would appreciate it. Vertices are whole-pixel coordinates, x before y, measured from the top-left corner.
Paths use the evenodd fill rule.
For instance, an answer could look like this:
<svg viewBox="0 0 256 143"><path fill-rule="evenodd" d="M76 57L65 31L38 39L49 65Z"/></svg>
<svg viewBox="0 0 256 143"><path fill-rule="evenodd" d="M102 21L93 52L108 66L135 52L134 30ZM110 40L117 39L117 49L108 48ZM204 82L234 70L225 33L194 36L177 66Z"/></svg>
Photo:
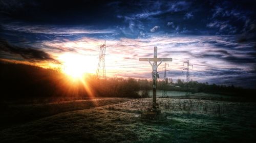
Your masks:
<svg viewBox="0 0 256 143"><path fill-rule="evenodd" d="M255 1L0 1L0 59L151 78L139 58L173 58L167 77L256 88ZM163 64L158 67L163 79Z"/></svg>

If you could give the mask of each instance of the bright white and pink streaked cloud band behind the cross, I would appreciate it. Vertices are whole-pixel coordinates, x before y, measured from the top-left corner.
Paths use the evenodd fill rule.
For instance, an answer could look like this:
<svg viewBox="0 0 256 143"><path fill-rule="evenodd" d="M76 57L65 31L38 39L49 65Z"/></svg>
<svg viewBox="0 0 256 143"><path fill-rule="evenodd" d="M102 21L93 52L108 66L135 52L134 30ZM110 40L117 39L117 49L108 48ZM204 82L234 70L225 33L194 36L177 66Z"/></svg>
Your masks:
<svg viewBox="0 0 256 143"><path fill-rule="evenodd" d="M194 80L228 84L232 81L240 85L238 81L235 82L234 77L247 77L247 74L255 76L253 67L256 60L253 44L234 43L235 39L235 36L172 37L158 35L146 39L107 40L106 72L113 76L151 78L150 65L138 61L139 58L153 57L153 47L158 46L159 58L173 58L173 62L169 62L170 75L168 76L174 79L185 77L182 74L183 62L190 60L194 64L194 69L191 70L191 78ZM94 68L96 69L98 47L102 42L101 39L84 37L75 41L44 41L42 45L48 48L73 49L74 53L89 56L90 59L95 59ZM246 47L248 50L243 51L242 47ZM66 51L51 54L58 57L63 53ZM159 68L159 72L162 77L161 68Z"/></svg>

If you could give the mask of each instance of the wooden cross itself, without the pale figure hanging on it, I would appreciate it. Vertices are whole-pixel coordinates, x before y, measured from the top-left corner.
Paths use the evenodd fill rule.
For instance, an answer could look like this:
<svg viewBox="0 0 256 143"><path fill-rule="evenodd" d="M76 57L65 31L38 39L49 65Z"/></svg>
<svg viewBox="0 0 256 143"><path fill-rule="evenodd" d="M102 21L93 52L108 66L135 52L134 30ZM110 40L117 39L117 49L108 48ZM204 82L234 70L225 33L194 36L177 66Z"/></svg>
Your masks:
<svg viewBox="0 0 256 143"><path fill-rule="evenodd" d="M151 61L154 62L155 65L157 65L157 62L172 62L172 58L157 58L157 47L154 47L154 58L140 58L140 61ZM154 71L153 71L154 72ZM155 71L157 73L157 71ZM153 79L154 80L154 79ZM153 81L154 83L154 81ZM155 84L157 81L155 81ZM154 85L153 85L154 86ZM156 109L156 100L157 100L157 90L156 87L153 88L153 108Z"/></svg>

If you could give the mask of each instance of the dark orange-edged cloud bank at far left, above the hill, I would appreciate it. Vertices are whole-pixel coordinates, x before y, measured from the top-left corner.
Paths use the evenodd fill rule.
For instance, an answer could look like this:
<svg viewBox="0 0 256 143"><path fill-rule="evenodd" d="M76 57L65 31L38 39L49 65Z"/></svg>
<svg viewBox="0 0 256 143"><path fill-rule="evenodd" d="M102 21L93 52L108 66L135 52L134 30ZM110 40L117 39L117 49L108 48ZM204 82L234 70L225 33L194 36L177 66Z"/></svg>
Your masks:
<svg viewBox="0 0 256 143"><path fill-rule="evenodd" d="M28 61L49 61L54 63L59 63L57 60L53 59L48 53L42 50L34 48L22 48L14 45L10 45L7 41L0 40L0 50L6 51L12 54L19 54L25 60Z"/></svg>

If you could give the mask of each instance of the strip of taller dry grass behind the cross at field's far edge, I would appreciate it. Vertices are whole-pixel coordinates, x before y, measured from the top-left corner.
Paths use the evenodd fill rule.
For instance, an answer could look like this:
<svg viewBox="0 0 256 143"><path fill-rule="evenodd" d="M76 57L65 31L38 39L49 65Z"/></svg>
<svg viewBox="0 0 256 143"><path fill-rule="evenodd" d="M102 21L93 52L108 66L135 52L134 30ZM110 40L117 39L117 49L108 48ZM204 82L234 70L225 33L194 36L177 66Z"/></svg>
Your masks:
<svg viewBox="0 0 256 143"><path fill-rule="evenodd" d="M158 98L157 104L159 108L167 113L200 113L206 115L225 116L234 112L242 112L243 110L253 110L256 103L248 102L228 102L228 101L211 101L199 99L173 99ZM152 99L135 99L125 104L115 105L116 108L144 111L152 106Z"/></svg>

